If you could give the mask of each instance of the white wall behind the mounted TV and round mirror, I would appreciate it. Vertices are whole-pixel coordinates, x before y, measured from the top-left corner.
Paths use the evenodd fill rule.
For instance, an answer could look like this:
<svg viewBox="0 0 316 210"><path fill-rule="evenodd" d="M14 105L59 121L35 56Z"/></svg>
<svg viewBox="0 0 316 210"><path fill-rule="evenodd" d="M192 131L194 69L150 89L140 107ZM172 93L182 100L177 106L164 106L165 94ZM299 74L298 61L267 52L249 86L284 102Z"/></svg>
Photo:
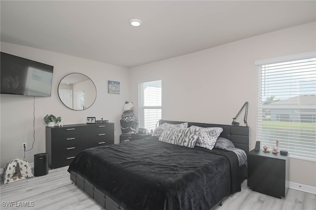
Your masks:
<svg viewBox="0 0 316 210"><path fill-rule="evenodd" d="M119 120L124 111L125 101L129 101L129 70L127 68L104 64L91 60L67 56L40 49L1 42L1 52L54 66L51 97L35 97L35 142L34 148L26 152L26 159L34 162L34 154L45 152L46 114L61 116L64 124L85 123L86 117L108 119L115 123L115 142L121 134ZM74 111L61 103L58 97L59 81L69 73L83 73L95 84L97 98L88 109ZM120 82L120 94L108 94L108 80ZM1 154L0 168L16 156L23 157L22 142L27 142L27 149L33 143L33 103L29 96L0 95L0 132Z"/></svg>

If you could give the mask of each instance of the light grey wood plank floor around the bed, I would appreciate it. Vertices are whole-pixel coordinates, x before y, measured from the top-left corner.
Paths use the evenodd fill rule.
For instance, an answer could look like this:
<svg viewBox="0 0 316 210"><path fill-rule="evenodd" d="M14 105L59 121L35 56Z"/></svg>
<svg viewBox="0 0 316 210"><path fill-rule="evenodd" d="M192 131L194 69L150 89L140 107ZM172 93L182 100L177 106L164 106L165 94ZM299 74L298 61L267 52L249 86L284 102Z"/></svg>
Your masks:
<svg viewBox="0 0 316 210"><path fill-rule="evenodd" d="M1 210L100 210L96 202L70 181L68 167L49 170L48 175L0 184ZM6 207L4 202L34 202L34 207ZM16 203L18 205L18 203ZM316 195L289 189L278 199L254 192L242 183L241 192L224 200L215 210L316 210Z"/></svg>

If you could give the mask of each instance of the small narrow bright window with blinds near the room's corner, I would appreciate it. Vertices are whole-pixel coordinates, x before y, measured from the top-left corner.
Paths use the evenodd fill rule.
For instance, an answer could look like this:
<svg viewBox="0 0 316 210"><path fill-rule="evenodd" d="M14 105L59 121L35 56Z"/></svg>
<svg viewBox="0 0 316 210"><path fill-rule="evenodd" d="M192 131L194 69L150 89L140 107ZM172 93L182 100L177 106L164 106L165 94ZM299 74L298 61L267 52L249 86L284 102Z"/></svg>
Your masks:
<svg viewBox="0 0 316 210"><path fill-rule="evenodd" d="M138 84L139 127L148 131L161 119L161 80Z"/></svg>

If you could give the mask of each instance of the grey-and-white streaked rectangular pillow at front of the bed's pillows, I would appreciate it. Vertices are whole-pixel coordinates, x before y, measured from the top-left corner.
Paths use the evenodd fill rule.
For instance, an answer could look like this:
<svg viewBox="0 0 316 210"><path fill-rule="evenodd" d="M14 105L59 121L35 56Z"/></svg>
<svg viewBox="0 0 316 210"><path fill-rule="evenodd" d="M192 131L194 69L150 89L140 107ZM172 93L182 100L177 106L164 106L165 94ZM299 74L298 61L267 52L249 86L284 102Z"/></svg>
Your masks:
<svg viewBox="0 0 316 210"><path fill-rule="evenodd" d="M159 137L159 141L193 148L197 142L200 127L179 128L167 125Z"/></svg>

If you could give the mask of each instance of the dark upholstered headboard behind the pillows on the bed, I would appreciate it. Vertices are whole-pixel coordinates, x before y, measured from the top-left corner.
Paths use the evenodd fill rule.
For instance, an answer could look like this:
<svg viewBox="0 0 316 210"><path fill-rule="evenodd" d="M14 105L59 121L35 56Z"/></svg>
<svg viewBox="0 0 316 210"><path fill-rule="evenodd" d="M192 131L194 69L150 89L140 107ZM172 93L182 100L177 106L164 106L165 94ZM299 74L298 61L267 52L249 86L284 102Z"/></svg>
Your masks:
<svg viewBox="0 0 316 210"><path fill-rule="evenodd" d="M180 123L184 123L184 122L170 121L170 120L159 120L159 125L161 125L163 123L180 124ZM221 128L223 128L223 132L221 133L220 137L231 140L237 148L243 149L246 153L249 152L249 147L250 147L250 128L249 128L249 126L235 126L235 125L220 125L220 124L189 122L188 127L193 126L193 125L203 127L203 128L221 127Z"/></svg>

